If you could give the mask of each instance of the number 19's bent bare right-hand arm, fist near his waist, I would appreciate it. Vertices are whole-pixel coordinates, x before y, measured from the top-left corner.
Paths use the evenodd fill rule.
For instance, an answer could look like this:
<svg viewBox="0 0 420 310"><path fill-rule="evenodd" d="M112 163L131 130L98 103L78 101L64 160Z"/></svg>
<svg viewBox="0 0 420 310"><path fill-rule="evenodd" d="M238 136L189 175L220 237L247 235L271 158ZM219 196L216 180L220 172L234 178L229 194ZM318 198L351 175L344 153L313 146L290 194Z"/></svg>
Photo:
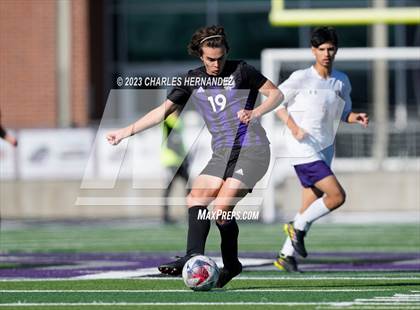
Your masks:
<svg viewBox="0 0 420 310"><path fill-rule="evenodd" d="M283 101L283 93L270 80L267 80L258 91L267 99L254 110L240 110L238 118L242 123L248 124L252 119L263 116L274 110Z"/></svg>

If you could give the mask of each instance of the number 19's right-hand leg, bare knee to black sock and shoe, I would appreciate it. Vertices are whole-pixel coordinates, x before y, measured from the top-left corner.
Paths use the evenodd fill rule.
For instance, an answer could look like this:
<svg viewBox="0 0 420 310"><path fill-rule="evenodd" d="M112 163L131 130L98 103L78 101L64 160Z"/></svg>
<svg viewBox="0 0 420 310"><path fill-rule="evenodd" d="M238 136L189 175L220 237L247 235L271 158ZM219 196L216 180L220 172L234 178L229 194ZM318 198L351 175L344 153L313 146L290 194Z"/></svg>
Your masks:
<svg viewBox="0 0 420 310"><path fill-rule="evenodd" d="M213 212L221 213L216 225L220 231L220 249L223 258L223 268L220 271L217 287L225 286L232 278L242 272L242 264L238 259L239 227L235 218L228 219L224 216L232 211L248 192L249 189L244 183L234 178L228 178L214 202Z"/></svg>

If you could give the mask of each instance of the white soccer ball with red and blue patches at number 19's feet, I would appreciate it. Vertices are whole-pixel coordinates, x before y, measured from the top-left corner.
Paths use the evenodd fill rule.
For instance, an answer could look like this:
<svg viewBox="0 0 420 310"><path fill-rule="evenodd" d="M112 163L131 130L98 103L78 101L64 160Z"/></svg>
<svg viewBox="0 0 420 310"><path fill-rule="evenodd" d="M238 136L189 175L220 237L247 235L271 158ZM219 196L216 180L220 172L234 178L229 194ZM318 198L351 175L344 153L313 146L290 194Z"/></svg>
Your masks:
<svg viewBox="0 0 420 310"><path fill-rule="evenodd" d="M219 268L210 257L193 256L185 263L182 278L193 291L209 291L216 286Z"/></svg>

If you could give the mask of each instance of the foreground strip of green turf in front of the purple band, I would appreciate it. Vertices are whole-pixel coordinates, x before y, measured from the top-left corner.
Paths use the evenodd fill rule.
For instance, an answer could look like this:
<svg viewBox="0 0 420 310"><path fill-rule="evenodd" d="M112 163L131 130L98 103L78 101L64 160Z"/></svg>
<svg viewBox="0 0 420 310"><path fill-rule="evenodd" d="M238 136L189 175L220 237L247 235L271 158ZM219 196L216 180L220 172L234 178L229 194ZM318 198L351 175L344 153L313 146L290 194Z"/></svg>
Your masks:
<svg viewBox="0 0 420 310"><path fill-rule="evenodd" d="M210 292L187 290L179 279L2 282L0 287L2 304L16 307L16 303L22 306L29 303L31 309L36 305L43 309L48 304L52 304L53 309L74 308L75 305L94 309L95 303L110 309L116 306L124 309L420 307L420 278L402 274L353 273L349 276L335 273L327 277L320 274L289 277L245 272L242 279L232 281L226 289Z"/></svg>

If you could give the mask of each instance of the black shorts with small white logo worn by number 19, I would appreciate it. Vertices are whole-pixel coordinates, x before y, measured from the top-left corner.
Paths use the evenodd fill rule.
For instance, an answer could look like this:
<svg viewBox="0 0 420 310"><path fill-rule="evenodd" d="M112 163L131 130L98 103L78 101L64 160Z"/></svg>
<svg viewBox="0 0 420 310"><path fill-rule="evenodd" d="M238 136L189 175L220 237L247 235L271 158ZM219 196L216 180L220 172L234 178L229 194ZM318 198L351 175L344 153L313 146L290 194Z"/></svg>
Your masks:
<svg viewBox="0 0 420 310"><path fill-rule="evenodd" d="M218 149L200 174L234 178L244 183L249 192L262 179L270 164L270 146Z"/></svg>

